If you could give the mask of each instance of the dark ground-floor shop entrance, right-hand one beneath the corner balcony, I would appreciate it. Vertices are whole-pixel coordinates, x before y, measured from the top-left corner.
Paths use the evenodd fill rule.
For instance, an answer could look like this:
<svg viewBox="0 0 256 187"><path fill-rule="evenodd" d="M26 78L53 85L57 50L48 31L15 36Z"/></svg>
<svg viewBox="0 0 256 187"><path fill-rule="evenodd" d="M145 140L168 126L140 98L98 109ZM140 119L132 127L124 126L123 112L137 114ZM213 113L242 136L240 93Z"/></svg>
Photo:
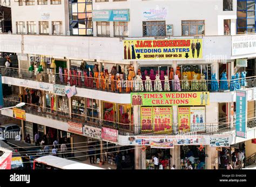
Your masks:
<svg viewBox="0 0 256 187"><path fill-rule="evenodd" d="M190 164L193 169L206 169L205 146L181 146L180 169L188 169Z"/></svg>

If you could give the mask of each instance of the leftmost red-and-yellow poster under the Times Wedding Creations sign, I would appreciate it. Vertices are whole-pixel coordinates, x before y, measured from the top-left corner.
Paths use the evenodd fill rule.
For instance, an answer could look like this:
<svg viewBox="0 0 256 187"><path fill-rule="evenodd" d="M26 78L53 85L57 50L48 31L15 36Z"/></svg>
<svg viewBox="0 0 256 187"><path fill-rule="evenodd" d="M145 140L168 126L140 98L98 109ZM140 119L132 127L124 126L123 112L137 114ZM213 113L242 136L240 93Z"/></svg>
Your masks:
<svg viewBox="0 0 256 187"><path fill-rule="evenodd" d="M140 108L140 124L141 131L148 132L153 130L152 123L152 107L142 107Z"/></svg>

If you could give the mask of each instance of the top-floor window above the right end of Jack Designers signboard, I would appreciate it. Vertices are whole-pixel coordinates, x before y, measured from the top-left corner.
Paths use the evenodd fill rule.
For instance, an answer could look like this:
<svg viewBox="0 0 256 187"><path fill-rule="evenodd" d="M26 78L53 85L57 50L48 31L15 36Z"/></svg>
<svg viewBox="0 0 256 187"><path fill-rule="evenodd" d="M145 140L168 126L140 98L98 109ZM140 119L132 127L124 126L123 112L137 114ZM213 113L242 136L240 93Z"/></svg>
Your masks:
<svg viewBox="0 0 256 187"><path fill-rule="evenodd" d="M181 21L182 36L205 35L204 20L184 20Z"/></svg>

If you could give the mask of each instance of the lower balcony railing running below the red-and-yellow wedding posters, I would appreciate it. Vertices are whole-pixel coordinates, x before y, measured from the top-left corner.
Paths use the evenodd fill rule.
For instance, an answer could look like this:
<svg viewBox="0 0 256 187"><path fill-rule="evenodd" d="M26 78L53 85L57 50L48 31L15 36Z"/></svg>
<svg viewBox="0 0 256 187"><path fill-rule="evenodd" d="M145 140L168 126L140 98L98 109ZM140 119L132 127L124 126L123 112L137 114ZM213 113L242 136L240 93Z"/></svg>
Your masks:
<svg viewBox="0 0 256 187"><path fill-rule="evenodd" d="M4 99L4 107L15 106L19 103L18 98L8 98ZM63 112L59 110L53 110L51 108L40 107L36 105L31 105L26 103L25 106L22 107L26 111L26 113L46 117L53 120L63 121L63 122L76 122L82 123L83 125L96 127L96 128L112 128L118 129L119 134L126 135L129 134L149 134L149 135L177 135L177 134L185 134L185 133L197 133L197 134L221 134L221 133L232 133L234 130L233 123L200 123L196 126L192 126L191 130L186 130L186 128L181 128L177 123L172 124L171 130L164 130L167 126L166 124L158 124L156 128L156 124L147 124L147 126L142 127L141 124L124 124L113 121L107 121L103 119L93 118L90 116L73 114L68 112Z"/></svg>

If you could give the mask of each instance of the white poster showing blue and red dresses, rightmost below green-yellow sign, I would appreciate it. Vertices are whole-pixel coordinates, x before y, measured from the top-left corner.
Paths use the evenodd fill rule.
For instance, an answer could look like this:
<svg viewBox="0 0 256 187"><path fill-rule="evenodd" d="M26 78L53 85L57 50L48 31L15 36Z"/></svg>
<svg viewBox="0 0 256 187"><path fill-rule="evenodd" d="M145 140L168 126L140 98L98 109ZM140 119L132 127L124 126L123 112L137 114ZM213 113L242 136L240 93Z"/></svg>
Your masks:
<svg viewBox="0 0 256 187"><path fill-rule="evenodd" d="M205 107L190 107L190 131L205 131Z"/></svg>

